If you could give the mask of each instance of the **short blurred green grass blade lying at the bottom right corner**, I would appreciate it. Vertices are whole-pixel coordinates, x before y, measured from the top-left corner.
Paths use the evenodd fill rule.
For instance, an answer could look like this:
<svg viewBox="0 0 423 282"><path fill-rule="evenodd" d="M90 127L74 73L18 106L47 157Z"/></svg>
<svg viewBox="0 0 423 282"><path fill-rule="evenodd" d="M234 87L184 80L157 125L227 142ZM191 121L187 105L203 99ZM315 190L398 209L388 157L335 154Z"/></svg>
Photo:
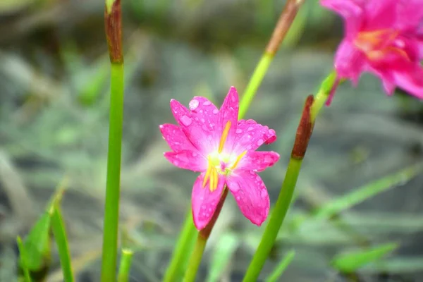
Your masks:
<svg viewBox="0 0 423 282"><path fill-rule="evenodd" d="M336 255L331 264L339 271L350 273L366 264L369 264L370 262L374 262L375 260L384 257L397 247L398 244L396 243L387 243L371 247L368 250L359 250Z"/></svg>

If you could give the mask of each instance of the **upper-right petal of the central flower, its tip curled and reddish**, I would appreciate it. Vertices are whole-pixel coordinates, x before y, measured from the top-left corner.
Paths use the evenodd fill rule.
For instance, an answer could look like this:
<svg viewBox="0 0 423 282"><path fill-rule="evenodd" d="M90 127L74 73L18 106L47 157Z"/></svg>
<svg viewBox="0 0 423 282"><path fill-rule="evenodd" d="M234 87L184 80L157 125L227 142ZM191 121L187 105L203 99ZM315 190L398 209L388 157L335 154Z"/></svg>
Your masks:
<svg viewBox="0 0 423 282"><path fill-rule="evenodd" d="M241 120L238 122L238 128L235 131L235 146L233 152L241 154L244 151L254 151L263 143L270 144L276 141L275 130L267 126L256 123L254 120Z"/></svg>

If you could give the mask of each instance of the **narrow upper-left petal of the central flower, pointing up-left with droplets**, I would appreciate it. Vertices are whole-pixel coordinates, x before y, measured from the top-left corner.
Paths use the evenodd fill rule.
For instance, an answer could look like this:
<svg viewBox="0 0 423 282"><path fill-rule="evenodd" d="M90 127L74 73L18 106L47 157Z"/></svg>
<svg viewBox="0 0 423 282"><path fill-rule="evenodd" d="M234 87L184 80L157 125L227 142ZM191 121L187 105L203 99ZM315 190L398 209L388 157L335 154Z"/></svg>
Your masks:
<svg viewBox="0 0 423 282"><path fill-rule="evenodd" d="M175 99L171 99L171 109L180 129L200 152L205 155L216 147L214 144L219 141L214 140L213 135L202 126L197 116Z"/></svg>

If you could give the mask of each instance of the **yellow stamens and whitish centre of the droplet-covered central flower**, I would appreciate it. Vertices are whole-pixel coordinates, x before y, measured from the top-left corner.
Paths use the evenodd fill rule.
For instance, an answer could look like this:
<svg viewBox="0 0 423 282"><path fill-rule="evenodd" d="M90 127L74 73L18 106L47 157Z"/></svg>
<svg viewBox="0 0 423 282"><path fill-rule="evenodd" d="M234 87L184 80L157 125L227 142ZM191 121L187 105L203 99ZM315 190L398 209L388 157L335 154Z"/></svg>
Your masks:
<svg viewBox="0 0 423 282"><path fill-rule="evenodd" d="M223 129L221 140L219 143L219 149L217 152L212 152L207 156L209 166L207 166L206 175L203 180L203 188L209 181L210 191L214 191L219 183L219 174L228 175L233 169L239 164L240 160L247 154L247 151L242 152L238 156L233 154L223 153L223 147L225 146L226 139L228 138L229 130L231 129L231 121L228 121Z"/></svg>

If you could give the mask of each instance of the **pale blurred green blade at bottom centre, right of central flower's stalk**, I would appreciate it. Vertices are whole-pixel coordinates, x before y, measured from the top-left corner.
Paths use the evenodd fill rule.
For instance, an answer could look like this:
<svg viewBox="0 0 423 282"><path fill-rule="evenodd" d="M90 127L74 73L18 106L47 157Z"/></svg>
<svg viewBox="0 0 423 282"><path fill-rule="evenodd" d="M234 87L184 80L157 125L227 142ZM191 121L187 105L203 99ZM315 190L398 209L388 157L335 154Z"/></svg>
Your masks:
<svg viewBox="0 0 423 282"><path fill-rule="evenodd" d="M226 233L219 238L219 242L212 255L212 263L207 276L207 282L219 281L222 271L228 265L238 245L239 239L234 233Z"/></svg>

